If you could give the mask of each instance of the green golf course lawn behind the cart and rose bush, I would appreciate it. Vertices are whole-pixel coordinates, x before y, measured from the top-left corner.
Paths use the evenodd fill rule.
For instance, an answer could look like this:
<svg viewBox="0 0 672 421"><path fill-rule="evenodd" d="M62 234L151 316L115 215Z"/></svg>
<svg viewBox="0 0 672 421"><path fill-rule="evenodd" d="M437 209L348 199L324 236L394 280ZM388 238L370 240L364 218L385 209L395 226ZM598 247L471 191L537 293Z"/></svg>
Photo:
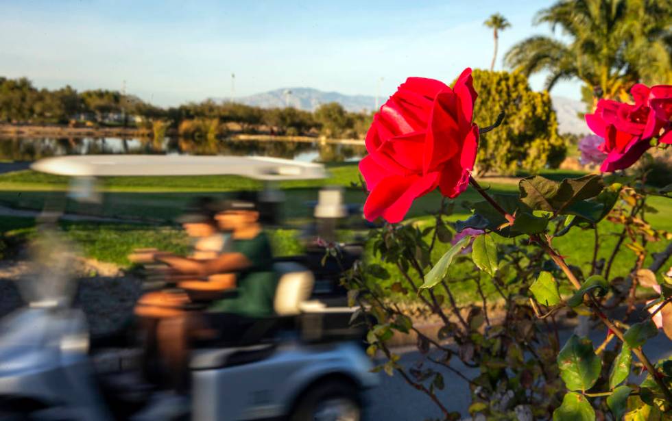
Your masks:
<svg viewBox="0 0 672 421"><path fill-rule="evenodd" d="M328 166L331 177L324 180L289 181L279 183L285 192L285 216L291 224L299 227L304 225L310 218L307 201L317 199L317 190L323 186L341 186L345 190L347 203L363 203L365 193L358 188L353 188L351 183L359 181L359 171L355 164L333 164ZM525 176L520 173L519 176ZM565 177L577 177L583 175L579 171L547 170L542 173L551 179L563 179ZM171 223L182 209L196 196L207 192L208 195L224 197L234 190L261 188L261 183L240 177L109 177L104 179L103 202L101 205L81 205L65 199L65 190L68 187L66 177L45 175L32 171L18 171L0 175L0 204L26 209L43 209L58 207L64 204L67 212L81 212L97 216L115 218L136 218L150 222L149 225L131 223L104 224L94 222L63 222L62 227L70 238L80 244L88 257L101 261L109 261L121 266L128 266L126 255L137 247L163 248L176 253L184 253L189 248L189 240L184 234ZM481 184L489 187L494 193L514 193L517 190L516 183L489 183L483 179ZM448 220L455 221L468 217L468 211L462 206L466 202L480 201L481 197L472 189L461 194L455 203L455 214ZM418 223L431 222L428 216L434 212L440 203L440 194L433 192L418 199L411 207L408 218ZM649 205L658 209L657 214L649 212L647 218L656 229L672 231L672 201L660 197L651 197ZM31 218L0 218L0 233L20 236L31 233L34 230L34 220ZM616 242L616 234L622 227L611 222L603 221L599 225L601 235L601 248L599 257L607 259ZM272 242L276 255L292 255L300 253L302 246L296 239L295 229L282 229L272 232ZM344 233L348 236L351 233ZM512 240L499 239L499 242ZM555 238L554 246L567 257L568 263L581 267L584 272L590 267L593 250L592 231L573 229L561 238ZM660 251L666 244L658 242L651 244L651 251ZM448 249L448 244L437 244L433 258L437 259ZM368 247L367 256L373 257ZM650 259L650 258L649 258ZM621 248L616 255L612 276L626 275L632 268L634 253L628 248ZM645 263L648 264L648 261ZM399 279L402 275L396 267L384 264L392 279ZM457 261L451 267L448 275L453 279L459 279L466 270L471 270L469 262ZM413 277L419 281L416 274ZM485 279L485 278L484 278ZM492 294L492 286L489 282L483 284L485 292ZM456 283L453 292L460 303L474 301L475 285L472 281Z"/></svg>

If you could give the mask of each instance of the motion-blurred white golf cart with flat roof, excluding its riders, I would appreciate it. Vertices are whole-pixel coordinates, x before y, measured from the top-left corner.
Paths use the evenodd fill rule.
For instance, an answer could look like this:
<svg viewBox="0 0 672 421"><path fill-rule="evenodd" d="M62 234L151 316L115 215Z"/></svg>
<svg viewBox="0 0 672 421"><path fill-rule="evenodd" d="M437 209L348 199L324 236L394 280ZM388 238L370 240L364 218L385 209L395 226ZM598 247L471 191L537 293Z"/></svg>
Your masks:
<svg viewBox="0 0 672 421"><path fill-rule="evenodd" d="M239 175L283 181L326 175L320 164L228 156L67 156L40 160L32 168L73 177L71 196L82 201L99 199L96 177ZM377 377L370 372L361 332L343 321L355 309L320 300L314 272L304 265L307 260L276 262L278 323L265 324L256 343L193 350L191 413L185 418L361 418L360 392L376 385ZM43 281L49 283L49 276ZM124 368L133 365L124 357L117 368L97 368L84 314L71 307L65 290L27 300L27 307L0 320L0 420L133 419L154 390L120 380Z"/></svg>

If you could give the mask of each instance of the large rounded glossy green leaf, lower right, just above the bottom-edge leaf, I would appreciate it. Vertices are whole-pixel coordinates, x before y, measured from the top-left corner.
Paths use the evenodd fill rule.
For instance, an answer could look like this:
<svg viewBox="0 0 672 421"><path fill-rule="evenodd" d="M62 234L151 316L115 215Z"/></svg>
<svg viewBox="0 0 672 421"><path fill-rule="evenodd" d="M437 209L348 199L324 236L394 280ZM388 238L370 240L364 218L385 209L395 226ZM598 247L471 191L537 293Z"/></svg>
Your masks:
<svg viewBox="0 0 672 421"><path fill-rule="evenodd" d="M602 363L587 337L572 335L557 354L560 377L569 390L586 392L595 385Z"/></svg>

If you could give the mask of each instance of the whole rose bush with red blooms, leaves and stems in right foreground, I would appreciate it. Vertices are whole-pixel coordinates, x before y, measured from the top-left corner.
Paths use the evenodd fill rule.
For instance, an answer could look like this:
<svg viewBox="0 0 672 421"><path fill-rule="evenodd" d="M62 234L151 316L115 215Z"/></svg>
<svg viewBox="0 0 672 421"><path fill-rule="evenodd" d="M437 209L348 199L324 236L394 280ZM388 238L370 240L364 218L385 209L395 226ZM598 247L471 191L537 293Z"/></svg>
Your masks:
<svg viewBox="0 0 672 421"><path fill-rule="evenodd" d="M647 149L669 143L670 88L636 85L634 104L601 101L586 116L599 138L585 146L592 160L602 160L603 172L627 168ZM655 212L647 198L667 197L670 189L623 174L562 181L533 176L520 180L517 194L490 194L470 170L479 132L496 129L501 118L479 129L472 123L476 99L468 70L452 90L439 81L409 78L381 107L368 133L370 155L360 165L370 191L365 215L387 222L370 231L379 261L355 264L344 284L351 304L368 316L368 353L387 358L376 369L398 373L444 419L460 417L436 394L446 372L468 385L475 419L671 416L672 359L654 363L643 350L659 328L672 339L672 279L656 273L672 244L656 255L650 251L672 235L647 222ZM468 203L466 220L448 222L451 199L467 183L483 201ZM397 223L413 199L437 187L443 199L431 223ZM607 234L598 230L606 225L616 242L609 257L599 259ZM566 261L553 244L577 230L592 231L595 238L588 270ZM448 250L437 254L438 244ZM632 251L632 270L615 273L622 248ZM389 279L390 265L399 279ZM381 286L381 279L389 286ZM477 298L458 303L455 291L467 288ZM403 305L409 302L415 305ZM577 315L592 329L603 327L605 339L597 348L579 335L561 344L561 324ZM434 333L418 324L428 318L440 325ZM409 334L422 355L411 366L400 363L389 346L395 335ZM629 377L641 372L647 373L643 381Z"/></svg>

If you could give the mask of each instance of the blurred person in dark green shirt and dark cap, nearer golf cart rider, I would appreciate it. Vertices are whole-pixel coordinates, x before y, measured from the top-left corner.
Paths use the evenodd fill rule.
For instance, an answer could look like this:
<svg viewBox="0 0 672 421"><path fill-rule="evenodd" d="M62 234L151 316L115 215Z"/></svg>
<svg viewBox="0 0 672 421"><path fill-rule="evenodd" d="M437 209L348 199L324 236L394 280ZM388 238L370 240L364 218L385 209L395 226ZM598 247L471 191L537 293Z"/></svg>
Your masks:
<svg viewBox="0 0 672 421"><path fill-rule="evenodd" d="M219 229L231 233L230 252L213 259L152 253L154 261L183 275L208 277L228 273L236 278L236 296L216 300L203 312L173 314L158 324L160 353L171 367L173 391L180 397L186 397L188 392L192 340L235 343L254 322L274 314L278 277L273 270L270 242L259 222L256 198L241 194L239 199L224 201L215 219Z"/></svg>

